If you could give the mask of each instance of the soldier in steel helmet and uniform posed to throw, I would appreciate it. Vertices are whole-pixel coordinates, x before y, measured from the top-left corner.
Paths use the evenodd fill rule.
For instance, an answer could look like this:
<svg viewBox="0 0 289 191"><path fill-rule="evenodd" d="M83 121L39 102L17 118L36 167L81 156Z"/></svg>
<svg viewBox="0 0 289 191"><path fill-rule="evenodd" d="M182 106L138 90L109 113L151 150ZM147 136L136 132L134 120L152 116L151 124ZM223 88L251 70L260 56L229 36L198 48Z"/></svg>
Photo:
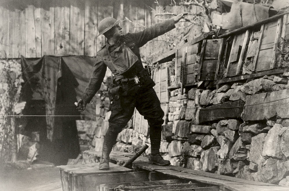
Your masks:
<svg viewBox="0 0 289 191"><path fill-rule="evenodd" d="M108 90L112 108L108 131L103 141L100 170L109 169L109 155L116 143L117 135L131 119L135 107L147 119L150 126L149 162L157 165L171 164L170 161L164 160L159 152L164 112L153 89L155 83L142 65L139 48L151 39L174 29L175 23L183 16L184 14L179 14L162 23L154 24L144 31L125 35L119 25L120 20L108 17L99 22L99 35L103 34L107 41L97 52L97 61L88 86L77 102L77 108L79 111L84 111L86 104L90 103L99 90L108 67L114 74L113 84Z"/></svg>

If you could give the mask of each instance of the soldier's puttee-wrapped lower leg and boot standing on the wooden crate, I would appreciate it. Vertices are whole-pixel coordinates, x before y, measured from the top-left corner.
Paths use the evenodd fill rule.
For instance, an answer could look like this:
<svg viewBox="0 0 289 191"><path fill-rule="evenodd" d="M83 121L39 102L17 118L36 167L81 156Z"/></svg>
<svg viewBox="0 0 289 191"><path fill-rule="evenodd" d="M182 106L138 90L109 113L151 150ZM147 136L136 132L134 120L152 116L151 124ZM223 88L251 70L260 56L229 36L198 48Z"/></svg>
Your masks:
<svg viewBox="0 0 289 191"><path fill-rule="evenodd" d="M109 170L109 154L116 142L118 133L107 131L103 140L102 154L99 161L99 170Z"/></svg>

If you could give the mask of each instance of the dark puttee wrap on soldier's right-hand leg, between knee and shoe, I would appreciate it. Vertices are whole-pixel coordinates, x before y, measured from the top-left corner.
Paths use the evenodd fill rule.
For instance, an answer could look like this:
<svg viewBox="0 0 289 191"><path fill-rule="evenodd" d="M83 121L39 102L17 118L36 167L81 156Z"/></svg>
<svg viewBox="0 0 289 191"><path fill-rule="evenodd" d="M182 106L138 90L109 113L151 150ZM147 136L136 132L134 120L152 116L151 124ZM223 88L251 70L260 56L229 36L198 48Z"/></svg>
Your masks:
<svg viewBox="0 0 289 191"><path fill-rule="evenodd" d="M162 127L150 126L149 138L151 140L151 154L160 153L160 143L161 143Z"/></svg>

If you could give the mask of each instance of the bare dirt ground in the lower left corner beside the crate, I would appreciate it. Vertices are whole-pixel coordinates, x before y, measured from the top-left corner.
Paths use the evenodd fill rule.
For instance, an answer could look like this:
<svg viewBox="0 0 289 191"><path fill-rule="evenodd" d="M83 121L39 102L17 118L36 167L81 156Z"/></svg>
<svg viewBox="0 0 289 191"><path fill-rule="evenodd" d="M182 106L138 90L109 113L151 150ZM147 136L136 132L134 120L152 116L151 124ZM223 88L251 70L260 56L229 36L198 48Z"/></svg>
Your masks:
<svg viewBox="0 0 289 191"><path fill-rule="evenodd" d="M0 172L0 191L62 191L52 164L8 165Z"/></svg>

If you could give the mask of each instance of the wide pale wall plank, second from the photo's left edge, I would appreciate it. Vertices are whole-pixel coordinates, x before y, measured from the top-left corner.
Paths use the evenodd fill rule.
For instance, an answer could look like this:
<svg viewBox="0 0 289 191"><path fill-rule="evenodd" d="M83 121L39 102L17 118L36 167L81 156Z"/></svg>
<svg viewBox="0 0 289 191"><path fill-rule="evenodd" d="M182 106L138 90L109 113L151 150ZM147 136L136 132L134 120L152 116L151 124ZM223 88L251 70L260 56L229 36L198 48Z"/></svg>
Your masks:
<svg viewBox="0 0 289 191"><path fill-rule="evenodd" d="M10 58L25 55L25 10L10 11Z"/></svg>

